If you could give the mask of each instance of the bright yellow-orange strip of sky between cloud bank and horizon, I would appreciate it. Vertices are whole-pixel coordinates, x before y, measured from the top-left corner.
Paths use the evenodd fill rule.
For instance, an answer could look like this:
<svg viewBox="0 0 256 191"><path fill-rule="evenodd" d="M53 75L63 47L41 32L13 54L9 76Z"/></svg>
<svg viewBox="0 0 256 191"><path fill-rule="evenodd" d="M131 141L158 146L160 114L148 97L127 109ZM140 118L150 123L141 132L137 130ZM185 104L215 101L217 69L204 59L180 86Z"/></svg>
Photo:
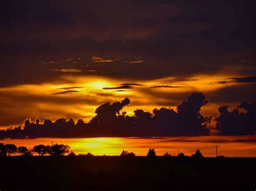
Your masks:
<svg viewBox="0 0 256 191"><path fill-rule="evenodd" d="M67 144L76 154L91 152L94 155L120 155L123 150L134 152L137 156L146 155L149 148L155 148L157 155L165 152L177 155L179 152L190 156L199 148L205 157L215 157L215 145L218 144L219 155L226 157L256 157L255 142L241 142L254 139L255 136L200 136L169 138L38 138L38 139L4 139L3 144L15 144L32 148L38 144ZM235 140L239 139L240 142ZM218 140L226 142L218 143Z"/></svg>

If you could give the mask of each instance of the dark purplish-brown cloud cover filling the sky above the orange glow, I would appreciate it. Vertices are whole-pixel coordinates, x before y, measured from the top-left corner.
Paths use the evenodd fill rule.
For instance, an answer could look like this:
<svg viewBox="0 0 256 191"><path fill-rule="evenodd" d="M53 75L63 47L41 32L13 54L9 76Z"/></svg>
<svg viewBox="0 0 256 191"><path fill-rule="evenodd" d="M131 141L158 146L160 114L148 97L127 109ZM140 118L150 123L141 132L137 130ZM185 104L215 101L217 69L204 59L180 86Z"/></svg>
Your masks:
<svg viewBox="0 0 256 191"><path fill-rule="evenodd" d="M91 62L111 62L100 75L126 79L189 77L233 68L240 60L255 62L253 5L254 1L5 1L0 12L0 86L56 79L44 72L53 63L38 66L38 60L66 64L96 55ZM113 68L115 73L110 72ZM8 82L6 70L13 73ZM255 75L252 70L246 73Z"/></svg>

